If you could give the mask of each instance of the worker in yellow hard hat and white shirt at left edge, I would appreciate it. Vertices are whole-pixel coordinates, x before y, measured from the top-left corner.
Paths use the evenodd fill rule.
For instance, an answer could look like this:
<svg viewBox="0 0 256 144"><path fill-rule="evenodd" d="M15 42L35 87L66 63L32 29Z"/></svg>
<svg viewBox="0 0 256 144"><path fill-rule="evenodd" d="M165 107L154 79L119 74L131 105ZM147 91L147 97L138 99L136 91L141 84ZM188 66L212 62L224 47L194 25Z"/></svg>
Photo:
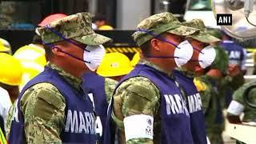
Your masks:
<svg viewBox="0 0 256 144"><path fill-rule="evenodd" d="M0 53L0 122L1 129L5 133L5 123L12 102L18 98L18 86L22 82L22 65L13 56Z"/></svg>

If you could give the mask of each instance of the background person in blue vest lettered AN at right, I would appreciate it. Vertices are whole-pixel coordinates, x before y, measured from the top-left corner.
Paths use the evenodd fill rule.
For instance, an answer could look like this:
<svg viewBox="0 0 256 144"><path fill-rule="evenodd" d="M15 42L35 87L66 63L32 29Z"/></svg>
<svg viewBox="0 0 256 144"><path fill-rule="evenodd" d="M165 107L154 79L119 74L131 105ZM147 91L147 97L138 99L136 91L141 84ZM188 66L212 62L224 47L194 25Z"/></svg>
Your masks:
<svg viewBox="0 0 256 144"><path fill-rule="evenodd" d="M228 75L223 79L222 84L225 87L225 107L229 106L232 100L232 94L234 90L238 90L240 86L244 83L245 79L243 75L246 74L246 50L239 46L237 43L232 41L231 37L226 34L226 32L213 30L215 34L222 36L222 42L218 44L229 55L229 66Z"/></svg>

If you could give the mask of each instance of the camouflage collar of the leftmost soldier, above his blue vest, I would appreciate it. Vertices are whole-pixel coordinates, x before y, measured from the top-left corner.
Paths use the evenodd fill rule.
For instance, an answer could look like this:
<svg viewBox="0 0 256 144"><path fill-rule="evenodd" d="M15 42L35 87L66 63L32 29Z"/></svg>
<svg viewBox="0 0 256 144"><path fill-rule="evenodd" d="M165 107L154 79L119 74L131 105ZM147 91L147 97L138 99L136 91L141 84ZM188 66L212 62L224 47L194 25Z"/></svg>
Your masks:
<svg viewBox="0 0 256 144"><path fill-rule="evenodd" d="M80 90L82 79L74 77L72 74L66 72L61 67L56 66L53 63L48 62L46 66L49 66L51 69L56 70L58 74L62 75L62 77L70 83L71 86L74 86L75 89Z"/></svg>

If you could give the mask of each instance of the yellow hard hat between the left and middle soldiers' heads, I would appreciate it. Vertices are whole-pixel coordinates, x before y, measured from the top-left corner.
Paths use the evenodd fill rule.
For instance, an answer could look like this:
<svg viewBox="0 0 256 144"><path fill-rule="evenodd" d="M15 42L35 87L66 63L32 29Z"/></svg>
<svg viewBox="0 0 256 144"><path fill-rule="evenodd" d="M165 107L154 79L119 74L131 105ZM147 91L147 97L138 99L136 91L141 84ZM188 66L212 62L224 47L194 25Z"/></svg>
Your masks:
<svg viewBox="0 0 256 144"><path fill-rule="evenodd" d="M97 74L103 77L116 77L129 74L131 70L133 67L125 54L108 53L104 56L101 65L98 66Z"/></svg>

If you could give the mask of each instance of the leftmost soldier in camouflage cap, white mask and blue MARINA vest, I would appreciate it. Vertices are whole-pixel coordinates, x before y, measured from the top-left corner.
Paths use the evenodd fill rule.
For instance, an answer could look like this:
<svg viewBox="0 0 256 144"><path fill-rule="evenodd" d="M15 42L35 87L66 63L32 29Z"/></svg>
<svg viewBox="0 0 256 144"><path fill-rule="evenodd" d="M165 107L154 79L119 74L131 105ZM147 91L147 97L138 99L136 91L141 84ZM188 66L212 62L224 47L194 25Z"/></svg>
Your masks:
<svg viewBox="0 0 256 144"><path fill-rule="evenodd" d="M38 31L50 60L11 109L9 142L95 143L94 109L82 90L82 74L97 68L93 58L101 59L105 52L99 45L111 39L95 34L89 13L67 16Z"/></svg>

